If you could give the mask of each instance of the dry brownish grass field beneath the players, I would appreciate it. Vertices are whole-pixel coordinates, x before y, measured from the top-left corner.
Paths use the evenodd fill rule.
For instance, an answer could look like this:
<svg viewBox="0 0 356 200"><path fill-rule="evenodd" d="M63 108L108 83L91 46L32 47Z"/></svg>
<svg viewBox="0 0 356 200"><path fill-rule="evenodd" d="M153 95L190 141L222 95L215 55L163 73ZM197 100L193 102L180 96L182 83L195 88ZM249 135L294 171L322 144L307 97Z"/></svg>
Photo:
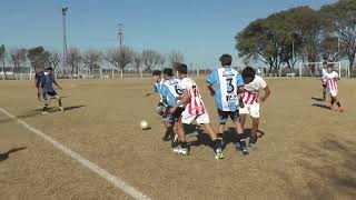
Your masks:
<svg viewBox="0 0 356 200"><path fill-rule="evenodd" d="M258 149L244 157L230 143L221 161L202 130L187 137L189 157L161 141L149 79L59 80L66 111L49 114L32 82L0 81L0 108L152 199L354 199L356 80L339 82L344 113L312 99L320 96L316 79L267 82ZM198 84L217 129L214 100ZM141 119L150 130L140 130ZM0 199L131 199L2 112L0 137Z"/></svg>

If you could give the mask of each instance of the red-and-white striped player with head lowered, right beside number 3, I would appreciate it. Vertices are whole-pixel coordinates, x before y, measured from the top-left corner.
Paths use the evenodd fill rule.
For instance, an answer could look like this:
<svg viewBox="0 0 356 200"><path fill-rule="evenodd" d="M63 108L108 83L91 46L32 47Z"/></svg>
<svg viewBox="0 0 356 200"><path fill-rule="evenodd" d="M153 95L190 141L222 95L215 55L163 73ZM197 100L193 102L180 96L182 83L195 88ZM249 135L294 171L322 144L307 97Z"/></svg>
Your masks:
<svg viewBox="0 0 356 200"><path fill-rule="evenodd" d="M250 114L253 118L253 129L248 146L254 149L256 148L257 131L259 126L259 91L264 90L264 97L260 98L260 101L264 102L269 97L270 90L267 87L266 81L261 77L256 76L255 70L250 67L247 67L243 70L243 79L245 82L245 91L241 96L241 101L245 106L240 109L240 122L243 127L245 127L246 116Z"/></svg>

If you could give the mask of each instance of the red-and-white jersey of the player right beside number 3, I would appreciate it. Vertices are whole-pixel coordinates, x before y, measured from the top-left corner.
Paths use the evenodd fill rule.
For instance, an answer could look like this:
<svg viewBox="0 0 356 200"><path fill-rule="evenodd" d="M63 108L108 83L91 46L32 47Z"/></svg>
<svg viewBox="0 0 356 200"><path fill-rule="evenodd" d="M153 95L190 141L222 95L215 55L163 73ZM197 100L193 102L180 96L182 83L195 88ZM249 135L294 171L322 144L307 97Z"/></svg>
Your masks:
<svg viewBox="0 0 356 200"><path fill-rule="evenodd" d="M261 77L255 76L255 79L250 83L244 86L243 102L245 104L257 103L259 91L265 88L267 88L266 81Z"/></svg>

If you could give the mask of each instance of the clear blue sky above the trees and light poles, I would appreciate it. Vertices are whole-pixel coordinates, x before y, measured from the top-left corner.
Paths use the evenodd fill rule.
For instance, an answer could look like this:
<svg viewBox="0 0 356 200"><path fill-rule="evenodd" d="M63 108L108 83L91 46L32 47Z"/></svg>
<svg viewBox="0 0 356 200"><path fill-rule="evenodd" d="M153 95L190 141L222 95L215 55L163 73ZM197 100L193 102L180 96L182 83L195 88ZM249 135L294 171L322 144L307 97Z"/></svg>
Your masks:
<svg viewBox="0 0 356 200"><path fill-rule="evenodd" d="M337 0L1 0L0 43L8 48L62 49L61 8L68 7L68 47L126 46L161 53L179 50L185 62L215 68L222 53L234 57L235 36L249 22L297 6L318 9Z"/></svg>

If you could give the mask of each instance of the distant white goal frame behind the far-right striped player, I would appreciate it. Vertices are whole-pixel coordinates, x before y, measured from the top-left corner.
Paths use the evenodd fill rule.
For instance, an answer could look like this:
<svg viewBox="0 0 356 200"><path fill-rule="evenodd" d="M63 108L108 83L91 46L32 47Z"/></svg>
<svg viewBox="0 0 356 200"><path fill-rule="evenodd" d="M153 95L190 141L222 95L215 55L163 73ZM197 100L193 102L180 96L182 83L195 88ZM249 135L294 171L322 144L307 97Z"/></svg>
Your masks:
<svg viewBox="0 0 356 200"><path fill-rule="evenodd" d="M339 77L346 77L349 78L349 68L343 71L342 62L327 62L334 64L334 70L338 72ZM309 66L315 66L315 71L317 73L314 73L314 76L320 76L320 70L323 68L323 62L300 62L299 64L299 78L307 77L307 73L310 72ZM344 73L345 72L345 73ZM312 73L312 72L310 72ZM305 74L305 76L303 76Z"/></svg>

